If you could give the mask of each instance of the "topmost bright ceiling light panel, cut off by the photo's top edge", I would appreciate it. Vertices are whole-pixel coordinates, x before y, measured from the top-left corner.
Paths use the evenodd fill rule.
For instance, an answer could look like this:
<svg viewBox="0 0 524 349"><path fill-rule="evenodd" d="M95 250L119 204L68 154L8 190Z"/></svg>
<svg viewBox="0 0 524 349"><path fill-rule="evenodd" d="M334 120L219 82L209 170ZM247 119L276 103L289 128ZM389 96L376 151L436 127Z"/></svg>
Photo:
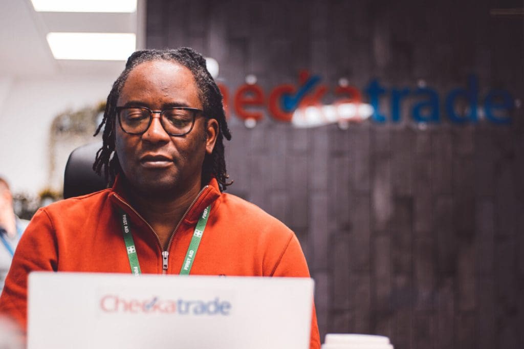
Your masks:
<svg viewBox="0 0 524 349"><path fill-rule="evenodd" d="M31 0L38 12L136 12L137 0Z"/></svg>

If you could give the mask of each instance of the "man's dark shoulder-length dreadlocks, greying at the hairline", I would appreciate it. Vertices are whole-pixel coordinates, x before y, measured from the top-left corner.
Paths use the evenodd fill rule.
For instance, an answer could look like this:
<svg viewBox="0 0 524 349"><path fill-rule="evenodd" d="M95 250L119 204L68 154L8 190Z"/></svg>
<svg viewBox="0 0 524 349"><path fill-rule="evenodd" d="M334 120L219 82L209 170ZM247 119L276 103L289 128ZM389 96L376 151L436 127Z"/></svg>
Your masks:
<svg viewBox="0 0 524 349"><path fill-rule="evenodd" d="M124 71L113 83L113 88L107 96L104 117L94 134L95 136L99 134L102 126L105 125L102 134L102 148L96 152L93 170L100 176L102 176L103 171L103 176L107 181L108 186L111 186L116 175L122 171L118 162L118 155L114 153L116 103L129 73L140 63L154 60L175 61L182 64L182 66L188 68L193 73L199 97L202 101L205 117L214 118L219 123L219 133L216 138L213 152L211 155L206 154L204 158L202 166L202 182L207 183L212 177L214 177L217 182L219 182L220 190L226 190L226 187L233 182L227 182L229 176L226 171L226 163L224 159L223 138L225 137L227 140L231 140L231 132L227 127L224 106L222 104L222 94L206 69L205 59L200 53L187 47L178 48L176 50L136 51L129 56Z"/></svg>

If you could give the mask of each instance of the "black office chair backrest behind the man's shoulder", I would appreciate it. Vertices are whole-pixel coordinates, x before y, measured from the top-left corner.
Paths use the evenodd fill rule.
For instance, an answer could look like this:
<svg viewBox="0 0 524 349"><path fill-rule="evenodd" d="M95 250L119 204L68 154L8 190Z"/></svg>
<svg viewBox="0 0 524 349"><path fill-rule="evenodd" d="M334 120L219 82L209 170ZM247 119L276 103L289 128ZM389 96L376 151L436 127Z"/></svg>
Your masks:
<svg viewBox="0 0 524 349"><path fill-rule="evenodd" d="M102 142L86 144L69 155L64 172L64 199L78 197L106 188L105 180L93 171L96 152Z"/></svg>

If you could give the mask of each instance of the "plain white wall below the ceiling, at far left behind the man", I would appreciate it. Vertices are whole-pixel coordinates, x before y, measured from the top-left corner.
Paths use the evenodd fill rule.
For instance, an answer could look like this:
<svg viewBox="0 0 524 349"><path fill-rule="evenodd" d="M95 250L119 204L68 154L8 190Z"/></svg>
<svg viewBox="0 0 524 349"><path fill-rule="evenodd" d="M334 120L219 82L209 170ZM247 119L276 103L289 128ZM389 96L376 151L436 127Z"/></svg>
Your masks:
<svg viewBox="0 0 524 349"><path fill-rule="evenodd" d="M0 176L14 192L36 195L48 187L54 117L105 101L116 78L117 74L0 77Z"/></svg>

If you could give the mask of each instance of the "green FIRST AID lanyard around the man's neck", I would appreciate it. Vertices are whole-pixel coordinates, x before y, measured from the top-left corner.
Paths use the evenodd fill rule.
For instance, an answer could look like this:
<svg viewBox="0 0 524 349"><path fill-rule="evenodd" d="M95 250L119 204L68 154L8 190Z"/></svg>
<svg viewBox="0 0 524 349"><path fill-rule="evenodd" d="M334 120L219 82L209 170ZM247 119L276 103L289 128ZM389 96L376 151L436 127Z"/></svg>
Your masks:
<svg viewBox="0 0 524 349"><path fill-rule="evenodd" d="M189 275L191 267L193 266L193 261L196 256L196 251L200 246L200 241L202 240L202 235L204 234L205 225L208 224L209 211L211 211L211 205L205 208L205 210L200 215L198 223L196 223L193 237L189 243L188 252L185 254L184 263L180 269L180 275ZM131 267L131 272L138 276L142 273L140 270L140 263L138 262L138 256L136 255L135 241L133 240L133 235L131 235L131 230L129 228L129 218L127 213L121 210L122 215L122 234L124 235L124 242L127 249L127 257L129 258L129 266Z"/></svg>

